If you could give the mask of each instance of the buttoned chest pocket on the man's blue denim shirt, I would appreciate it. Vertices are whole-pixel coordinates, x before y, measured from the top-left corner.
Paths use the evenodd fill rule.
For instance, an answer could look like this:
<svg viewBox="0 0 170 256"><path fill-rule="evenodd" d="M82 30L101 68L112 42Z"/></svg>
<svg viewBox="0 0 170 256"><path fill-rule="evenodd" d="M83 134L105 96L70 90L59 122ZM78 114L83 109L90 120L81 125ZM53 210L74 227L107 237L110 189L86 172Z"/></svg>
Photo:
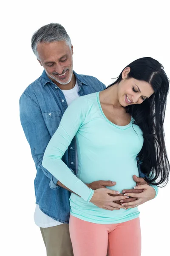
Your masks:
<svg viewBox="0 0 170 256"><path fill-rule="evenodd" d="M42 113L42 116L44 118L49 134L52 137L59 127L59 123L61 121L61 111L58 110L54 112Z"/></svg>

